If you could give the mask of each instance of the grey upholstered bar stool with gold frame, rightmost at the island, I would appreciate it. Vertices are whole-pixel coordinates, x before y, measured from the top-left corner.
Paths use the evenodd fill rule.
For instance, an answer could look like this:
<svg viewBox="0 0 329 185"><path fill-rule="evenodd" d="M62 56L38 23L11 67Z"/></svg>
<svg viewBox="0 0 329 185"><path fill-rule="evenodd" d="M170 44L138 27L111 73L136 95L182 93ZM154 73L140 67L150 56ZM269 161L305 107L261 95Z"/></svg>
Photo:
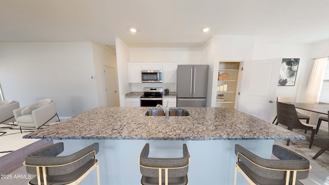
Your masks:
<svg viewBox="0 0 329 185"><path fill-rule="evenodd" d="M298 180L308 177L311 167L305 157L279 145L272 146L272 154L275 159L265 159L236 144L234 185L237 171L241 172L250 184L295 185Z"/></svg>

